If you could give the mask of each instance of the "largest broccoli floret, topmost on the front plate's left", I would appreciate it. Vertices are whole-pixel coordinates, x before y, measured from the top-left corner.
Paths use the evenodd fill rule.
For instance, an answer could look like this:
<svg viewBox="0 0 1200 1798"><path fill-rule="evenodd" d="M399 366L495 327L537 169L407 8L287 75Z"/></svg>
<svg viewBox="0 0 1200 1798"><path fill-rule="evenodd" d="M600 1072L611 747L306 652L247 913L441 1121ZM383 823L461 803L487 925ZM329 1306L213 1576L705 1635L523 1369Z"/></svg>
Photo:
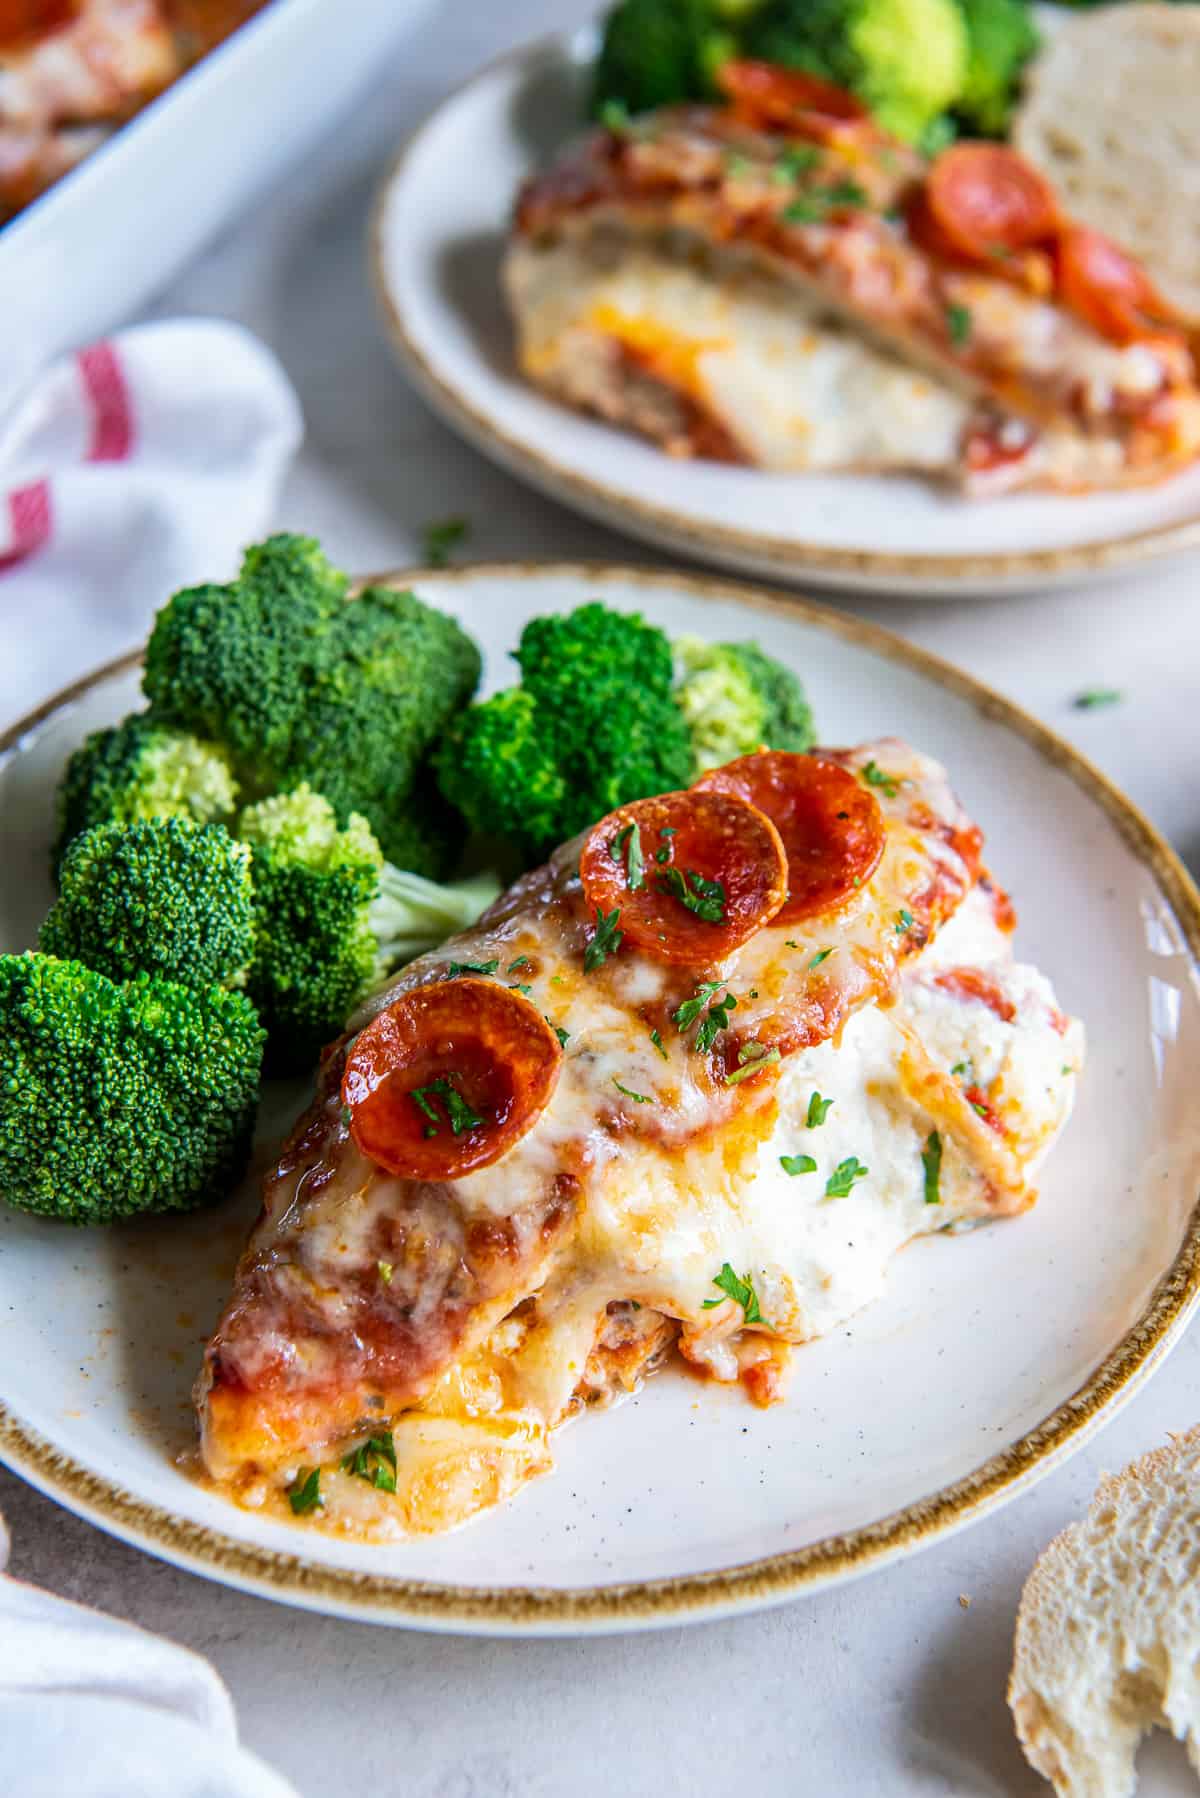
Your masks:
<svg viewBox="0 0 1200 1798"><path fill-rule="evenodd" d="M250 797L308 782L342 823L371 820L392 859L444 874L461 820L421 762L475 692L479 651L414 593L347 579L309 538L246 550L228 586L176 593L158 613L144 689L155 710L227 744Z"/></svg>

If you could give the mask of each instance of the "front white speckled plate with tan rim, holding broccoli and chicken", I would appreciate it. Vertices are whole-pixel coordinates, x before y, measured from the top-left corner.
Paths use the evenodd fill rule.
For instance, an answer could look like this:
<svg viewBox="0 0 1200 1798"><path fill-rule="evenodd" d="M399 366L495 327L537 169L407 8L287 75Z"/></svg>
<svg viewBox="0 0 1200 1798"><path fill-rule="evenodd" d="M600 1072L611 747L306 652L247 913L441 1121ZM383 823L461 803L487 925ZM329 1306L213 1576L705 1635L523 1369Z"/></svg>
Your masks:
<svg viewBox="0 0 1200 1798"><path fill-rule="evenodd" d="M511 1634L770 1604L1016 1498L1137 1392L1200 1293L1200 895L1171 850L1034 719L856 619L615 566L396 579L462 619L493 685L511 680L529 617L603 595L669 633L757 635L802 671L824 741L898 734L945 761L1015 895L1020 957L1090 1039L1040 1203L896 1257L882 1298L797 1350L783 1404L761 1411L666 1368L563 1429L556 1471L502 1510L376 1546L234 1509L189 1474L189 1388L250 1187L196 1217L94 1233L0 1206L0 1458L101 1528L232 1586ZM4 739L2 948L29 946L50 901L65 757L137 703L137 683L131 656ZM270 1095L263 1160L300 1097Z"/></svg>

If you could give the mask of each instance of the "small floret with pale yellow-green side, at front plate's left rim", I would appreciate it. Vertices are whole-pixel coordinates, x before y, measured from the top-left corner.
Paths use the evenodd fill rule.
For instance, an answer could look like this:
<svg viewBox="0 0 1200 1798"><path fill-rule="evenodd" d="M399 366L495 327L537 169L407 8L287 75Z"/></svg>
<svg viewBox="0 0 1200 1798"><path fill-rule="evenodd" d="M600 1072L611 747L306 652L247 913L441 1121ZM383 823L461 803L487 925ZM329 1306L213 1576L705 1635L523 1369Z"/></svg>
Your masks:
<svg viewBox="0 0 1200 1798"><path fill-rule="evenodd" d="M67 762L58 789L54 868L70 840L97 823L135 818L223 823L236 804L237 782L227 750L133 712L124 723L94 732Z"/></svg>

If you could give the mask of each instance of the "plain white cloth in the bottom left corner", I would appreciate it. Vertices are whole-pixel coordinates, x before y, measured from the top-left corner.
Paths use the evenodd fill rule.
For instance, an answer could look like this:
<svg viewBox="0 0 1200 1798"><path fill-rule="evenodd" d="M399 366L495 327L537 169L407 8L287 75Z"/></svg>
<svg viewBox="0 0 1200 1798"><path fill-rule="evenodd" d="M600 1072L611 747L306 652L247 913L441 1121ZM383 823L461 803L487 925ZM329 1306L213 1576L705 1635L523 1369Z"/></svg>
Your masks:
<svg viewBox="0 0 1200 1798"><path fill-rule="evenodd" d="M0 1518L0 1568L7 1559ZM11 1798L297 1798L237 1742L198 1654L0 1573L0 1791Z"/></svg>

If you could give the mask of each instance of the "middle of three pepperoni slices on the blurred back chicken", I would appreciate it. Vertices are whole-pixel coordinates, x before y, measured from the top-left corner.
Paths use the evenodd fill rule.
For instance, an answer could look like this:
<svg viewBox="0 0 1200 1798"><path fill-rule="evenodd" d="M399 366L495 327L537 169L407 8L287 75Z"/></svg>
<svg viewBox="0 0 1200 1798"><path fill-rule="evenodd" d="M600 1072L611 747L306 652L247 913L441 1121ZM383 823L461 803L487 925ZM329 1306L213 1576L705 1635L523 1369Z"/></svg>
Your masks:
<svg viewBox="0 0 1200 1798"><path fill-rule="evenodd" d="M952 248L972 263L1000 250L1029 250L1058 228L1054 189L1006 144L954 144L925 178L925 205L914 228L928 221L928 248Z"/></svg>

